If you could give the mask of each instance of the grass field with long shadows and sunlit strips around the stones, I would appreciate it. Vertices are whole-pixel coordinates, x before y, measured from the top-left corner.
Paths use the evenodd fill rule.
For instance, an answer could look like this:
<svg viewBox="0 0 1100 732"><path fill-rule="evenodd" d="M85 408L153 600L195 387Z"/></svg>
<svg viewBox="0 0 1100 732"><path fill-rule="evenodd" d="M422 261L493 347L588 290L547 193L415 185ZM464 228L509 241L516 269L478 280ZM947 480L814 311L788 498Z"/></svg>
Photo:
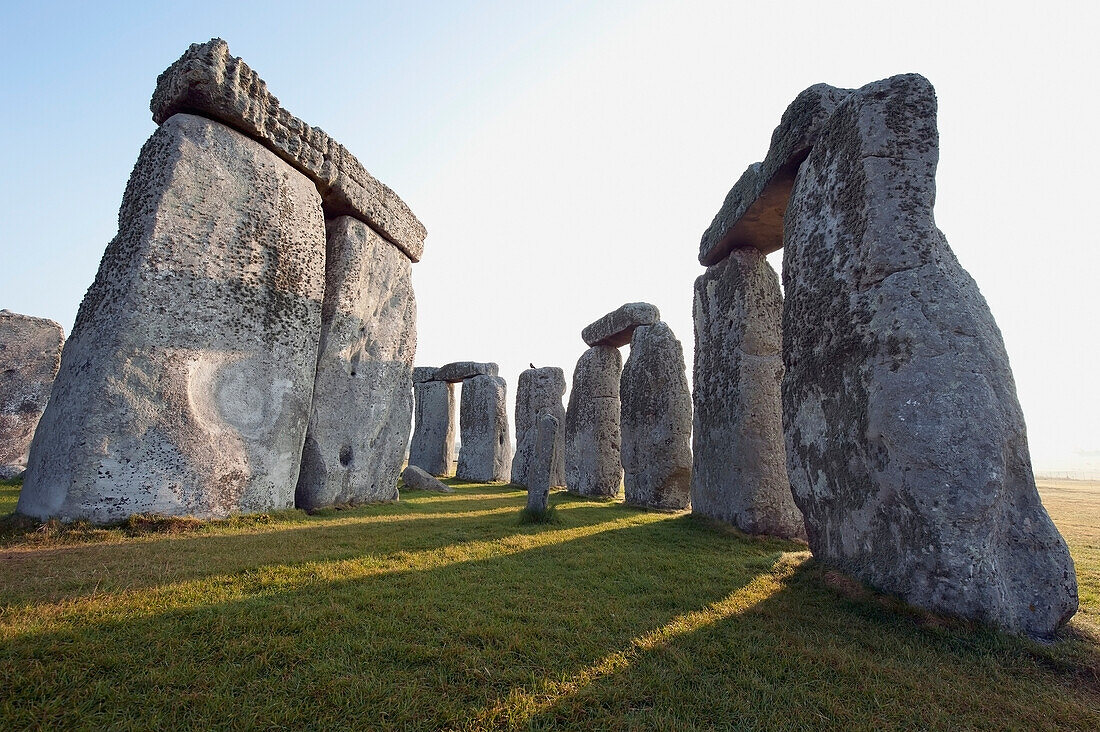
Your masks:
<svg viewBox="0 0 1100 732"><path fill-rule="evenodd" d="M0 729L1100 729L1100 483L1041 485L1053 645L805 547L554 493L111 529L0 522ZM0 514L18 485L0 487Z"/></svg>

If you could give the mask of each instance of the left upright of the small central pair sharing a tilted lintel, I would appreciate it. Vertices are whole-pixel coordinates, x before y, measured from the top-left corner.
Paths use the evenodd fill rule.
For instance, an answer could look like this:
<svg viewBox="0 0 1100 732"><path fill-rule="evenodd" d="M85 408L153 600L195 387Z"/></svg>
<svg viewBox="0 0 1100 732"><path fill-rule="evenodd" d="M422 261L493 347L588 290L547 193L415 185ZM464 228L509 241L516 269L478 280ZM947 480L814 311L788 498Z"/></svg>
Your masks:
<svg viewBox="0 0 1100 732"><path fill-rule="evenodd" d="M593 346L576 361L565 411L565 485L578 495L618 495L623 482L619 378L623 356Z"/></svg>

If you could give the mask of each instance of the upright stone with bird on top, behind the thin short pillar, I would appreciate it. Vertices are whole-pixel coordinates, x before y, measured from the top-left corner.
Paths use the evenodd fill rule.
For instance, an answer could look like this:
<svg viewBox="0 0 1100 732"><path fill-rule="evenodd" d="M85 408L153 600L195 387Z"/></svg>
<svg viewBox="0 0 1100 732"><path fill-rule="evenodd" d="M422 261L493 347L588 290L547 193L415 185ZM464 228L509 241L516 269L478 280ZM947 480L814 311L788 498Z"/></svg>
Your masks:
<svg viewBox="0 0 1100 732"><path fill-rule="evenodd" d="M512 482L530 485L531 467L540 417L552 414L558 418L559 431L554 437L556 462L550 471L550 485L565 484L565 373L558 367L527 369L519 374L516 385L516 455L512 459Z"/></svg>

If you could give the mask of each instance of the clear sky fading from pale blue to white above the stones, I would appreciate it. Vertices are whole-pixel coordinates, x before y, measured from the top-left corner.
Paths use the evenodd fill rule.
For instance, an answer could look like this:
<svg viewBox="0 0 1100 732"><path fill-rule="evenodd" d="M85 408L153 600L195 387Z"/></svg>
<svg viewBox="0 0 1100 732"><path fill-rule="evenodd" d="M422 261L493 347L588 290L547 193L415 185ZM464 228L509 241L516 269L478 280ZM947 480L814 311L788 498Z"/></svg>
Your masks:
<svg viewBox="0 0 1100 732"><path fill-rule="evenodd" d="M156 76L212 36L425 222L417 363L496 361L509 402L528 362L570 379L624 302L661 308L690 373L700 236L787 105L921 73L936 220L1004 335L1035 467L1100 477L1100 3L4 2L0 307L72 329Z"/></svg>

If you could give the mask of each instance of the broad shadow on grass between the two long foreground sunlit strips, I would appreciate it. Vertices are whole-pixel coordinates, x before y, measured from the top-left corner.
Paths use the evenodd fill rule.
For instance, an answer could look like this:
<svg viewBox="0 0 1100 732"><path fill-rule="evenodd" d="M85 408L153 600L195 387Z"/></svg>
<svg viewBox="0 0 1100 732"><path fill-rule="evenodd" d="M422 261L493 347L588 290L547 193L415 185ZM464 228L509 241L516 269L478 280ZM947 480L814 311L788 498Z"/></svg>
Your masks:
<svg viewBox="0 0 1100 732"><path fill-rule="evenodd" d="M0 646L0 708L15 726L469 726L513 689L736 592L784 548L670 517L430 570L64 623Z"/></svg>

